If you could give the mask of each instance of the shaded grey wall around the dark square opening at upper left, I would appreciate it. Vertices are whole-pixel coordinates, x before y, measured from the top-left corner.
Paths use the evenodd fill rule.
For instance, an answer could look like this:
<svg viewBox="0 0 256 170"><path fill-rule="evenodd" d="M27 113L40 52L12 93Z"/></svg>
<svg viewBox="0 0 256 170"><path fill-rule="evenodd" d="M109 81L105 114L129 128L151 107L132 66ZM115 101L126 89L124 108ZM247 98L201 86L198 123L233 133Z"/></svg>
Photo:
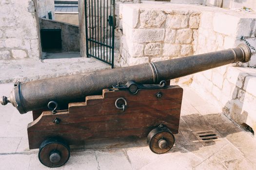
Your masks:
<svg viewBox="0 0 256 170"><path fill-rule="evenodd" d="M40 29L61 29L62 51L79 51L79 27L55 20L39 19Z"/></svg>

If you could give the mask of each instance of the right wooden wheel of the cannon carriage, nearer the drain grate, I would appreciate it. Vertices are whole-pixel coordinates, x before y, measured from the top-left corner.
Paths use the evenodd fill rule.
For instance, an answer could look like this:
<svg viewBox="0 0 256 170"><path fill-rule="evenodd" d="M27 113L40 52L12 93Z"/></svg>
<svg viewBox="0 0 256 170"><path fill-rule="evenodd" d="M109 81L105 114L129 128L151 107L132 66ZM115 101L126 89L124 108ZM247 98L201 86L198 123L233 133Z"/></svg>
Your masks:
<svg viewBox="0 0 256 170"><path fill-rule="evenodd" d="M173 147L174 141L173 133L162 125L150 131L147 138L150 150L158 154L168 152Z"/></svg>

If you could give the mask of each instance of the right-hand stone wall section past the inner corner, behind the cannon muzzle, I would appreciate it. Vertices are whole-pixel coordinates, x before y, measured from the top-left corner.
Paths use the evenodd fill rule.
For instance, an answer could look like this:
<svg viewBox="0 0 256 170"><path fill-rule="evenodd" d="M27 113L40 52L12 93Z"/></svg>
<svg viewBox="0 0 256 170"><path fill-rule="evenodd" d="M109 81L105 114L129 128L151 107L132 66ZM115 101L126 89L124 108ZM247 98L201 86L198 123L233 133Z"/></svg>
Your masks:
<svg viewBox="0 0 256 170"><path fill-rule="evenodd" d="M256 45L256 16L240 12L202 12L195 54L236 47L241 36ZM240 66L240 67L239 67ZM250 68L249 68L250 67ZM248 63L236 63L193 75L192 87L236 123L256 130L256 53Z"/></svg>

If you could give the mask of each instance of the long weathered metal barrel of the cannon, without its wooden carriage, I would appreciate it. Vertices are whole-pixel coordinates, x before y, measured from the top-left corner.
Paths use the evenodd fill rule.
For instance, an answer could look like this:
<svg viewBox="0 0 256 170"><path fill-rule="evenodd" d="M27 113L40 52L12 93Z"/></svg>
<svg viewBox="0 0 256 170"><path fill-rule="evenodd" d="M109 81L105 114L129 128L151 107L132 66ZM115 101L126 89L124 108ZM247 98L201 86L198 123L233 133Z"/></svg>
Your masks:
<svg viewBox="0 0 256 170"><path fill-rule="evenodd" d="M1 97L2 105L11 102L20 114L46 108L50 101L67 108L70 102L84 102L88 95L97 95L103 88L117 83L135 81L142 84L157 84L161 80L220 67L234 62L248 62L251 51L247 45L223 51L210 52L173 60L145 63L137 66L107 69L87 74L50 78L27 83L16 83L10 97Z"/></svg>

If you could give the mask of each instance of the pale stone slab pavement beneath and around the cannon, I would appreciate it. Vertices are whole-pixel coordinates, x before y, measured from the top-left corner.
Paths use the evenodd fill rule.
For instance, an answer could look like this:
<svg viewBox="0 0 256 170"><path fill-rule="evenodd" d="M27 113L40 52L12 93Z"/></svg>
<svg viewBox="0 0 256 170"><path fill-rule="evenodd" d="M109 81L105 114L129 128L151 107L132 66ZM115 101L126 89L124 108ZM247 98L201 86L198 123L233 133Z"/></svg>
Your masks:
<svg viewBox="0 0 256 170"><path fill-rule="evenodd" d="M0 85L0 94L8 95L11 88ZM56 170L256 170L256 139L209 102L184 88L179 133L168 153L152 153L146 138L92 140L71 146L69 161ZM0 106L0 170L49 169L39 162L38 149L28 149L30 121L31 113L20 115L10 104ZM201 140L202 131L217 139Z"/></svg>

